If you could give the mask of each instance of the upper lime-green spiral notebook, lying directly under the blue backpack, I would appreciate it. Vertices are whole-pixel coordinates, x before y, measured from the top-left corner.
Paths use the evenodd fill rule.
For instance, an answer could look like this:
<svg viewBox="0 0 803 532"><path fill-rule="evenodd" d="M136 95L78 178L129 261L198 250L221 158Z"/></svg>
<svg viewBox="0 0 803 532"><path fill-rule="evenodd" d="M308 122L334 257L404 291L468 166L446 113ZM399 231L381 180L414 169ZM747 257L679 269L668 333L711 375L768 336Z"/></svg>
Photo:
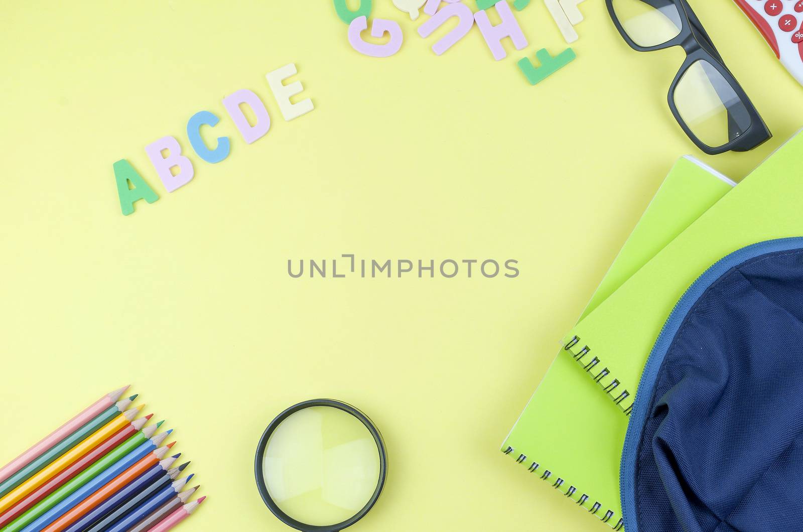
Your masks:
<svg viewBox="0 0 803 532"><path fill-rule="evenodd" d="M573 344L565 358L571 360L582 350L587 354L576 366L596 358L599 362L585 379L598 380L605 389L615 375L617 391L630 392L619 404L629 413L655 339L695 279L740 248L803 235L801 165L803 133L798 132L582 319L564 339L565 345ZM602 367L609 374L597 379Z"/></svg>

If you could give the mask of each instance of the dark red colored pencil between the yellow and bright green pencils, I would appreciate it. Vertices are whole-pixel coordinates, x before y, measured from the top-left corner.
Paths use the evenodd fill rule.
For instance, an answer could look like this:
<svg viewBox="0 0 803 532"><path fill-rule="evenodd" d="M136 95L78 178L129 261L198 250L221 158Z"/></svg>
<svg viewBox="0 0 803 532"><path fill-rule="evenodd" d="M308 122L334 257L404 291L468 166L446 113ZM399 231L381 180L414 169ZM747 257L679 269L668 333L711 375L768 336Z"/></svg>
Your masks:
<svg viewBox="0 0 803 532"><path fill-rule="evenodd" d="M122 444L125 440L128 440L128 438L136 434L141 429L145 435L145 439L153 436L162 422L160 421L158 424L151 425L150 427L143 429L142 427L145 426L145 423L148 421L149 417L150 415L146 415L140 419L135 419L127 427L121 428L114 434L114 436L104 441L102 444L92 449L92 451L82 456L80 460L73 462L70 467L64 469L61 473L39 486L39 488L37 488L33 493L8 509L6 513L0 514L0 528L14 521L14 519L22 515L26 509L29 509L37 502L42 501L43 498L65 485L68 481L71 481L79 473L84 472L84 470L86 470L89 466L94 464L97 460L100 460L103 456L107 455L108 452Z"/></svg>

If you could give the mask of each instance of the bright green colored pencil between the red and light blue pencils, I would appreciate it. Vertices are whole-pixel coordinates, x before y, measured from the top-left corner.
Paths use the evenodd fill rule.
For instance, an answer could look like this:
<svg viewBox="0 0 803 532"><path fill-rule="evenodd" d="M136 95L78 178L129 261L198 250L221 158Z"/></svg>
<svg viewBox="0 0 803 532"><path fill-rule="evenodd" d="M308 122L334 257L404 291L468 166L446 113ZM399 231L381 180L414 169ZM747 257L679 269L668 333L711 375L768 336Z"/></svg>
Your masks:
<svg viewBox="0 0 803 532"><path fill-rule="evenodd" d="M71 481L67 482L67 484L63 485L59 489L56 489L55 492L45 497L42 501L39 501L37 505L26 511L25 514L22 514L16 518L10 523L9 526L6 526L6 528L2 529L2 532L18 532L18 530L22 530L32 522L35 522L39 516L47 512L47 510L51 509L53 506L59 504L59 502L67 498L76 489L79 489L88 481L91 481L100 473L103 473L117 460L120 460L120 458L126 456L129 452L132 452L135 448L139 447L141 444L144 444L145 440L149 440L149 438L153 436L153 433L156 432L156 429L161 424L162 422L160 421L155 425L145 427L140 432L137 432L137 434L134 436L128 438L128 440L125 440L122 444L112 449L112 451L109 451L108 454L106 454L103 458L100 458L100 460L96 461L87 469L84 469L82 473L73 478ZM157 436L157 438L163 434L166 437L167 433L162 432L159 436ZM164 437L161 437L161 440L164 439Z"/></svg>

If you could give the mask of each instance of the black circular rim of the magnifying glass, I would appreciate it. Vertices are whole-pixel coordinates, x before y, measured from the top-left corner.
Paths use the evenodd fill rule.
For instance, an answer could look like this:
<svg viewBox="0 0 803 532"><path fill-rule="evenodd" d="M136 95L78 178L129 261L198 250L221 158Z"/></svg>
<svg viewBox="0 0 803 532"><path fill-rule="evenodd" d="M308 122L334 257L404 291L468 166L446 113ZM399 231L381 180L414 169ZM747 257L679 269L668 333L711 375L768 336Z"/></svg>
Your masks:
<svg viewBox="0 0 803 532"><path fill-rule="evenodd" d="M273 432L277 427L279 427L279 424L281 424L284 419L287 419L297 411L304 410L304 408L309 407L332 407L353 415L365 425L365 428L368 428L371 436L373 436L373 440L377 444L377 449L379 450L379 480L377 481L377 489L373 491L373 495L369 501L359 512L357 512L357 514L354 514L351 518L346 519L343 522L335 523L333 525L308 525L307 523L300 522L297 519L291 518L289 515L285 514L281 509L279 509L279 505L277 505L271 498L271 494L268 493L267 485L265 484L265 477L263 476L263 455L265 453L265 449L267 448L267 440L270 440L271 434L273 434ZM371 421L367 415L363 414L356 407L353 407L348 403L343 403L342 401L336 401L335 399L311 399L309 401L304 401L303 403L294 404L281 414L277 415L275 419L271 421L271 424L267 426L265 432L262 434L262 437L259 438L259 445L256 448L256 457L254 460L256 487L259 489L259 495L262 496L262 500L265 502L265 505L267 505L268 509L270 509L277 518L279 518L279 521L283 522L287 526L292 526L296 530L302 530L302 532L338 532L339 530L343 530L344 528L352 526L354 523L363 518L365 514L368 514L369 510L373 508L374 504L376 504L380 494L382 493L382 489L385 487L385 478L387 477L387 474L388 456L385 450L385 441L382 440L382 435L379 432L379 429L377 429L377 426L373 424L373 421Z"/></svg>

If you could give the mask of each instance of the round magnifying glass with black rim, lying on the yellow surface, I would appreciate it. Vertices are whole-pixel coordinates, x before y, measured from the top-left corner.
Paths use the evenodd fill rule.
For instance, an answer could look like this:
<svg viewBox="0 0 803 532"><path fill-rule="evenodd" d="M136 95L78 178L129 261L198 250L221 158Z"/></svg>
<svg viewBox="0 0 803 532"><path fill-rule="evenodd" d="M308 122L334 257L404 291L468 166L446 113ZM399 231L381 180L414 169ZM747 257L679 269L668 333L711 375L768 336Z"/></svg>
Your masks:
<svg viewBox="0 0 803 532"><path fill-rule="evenodd" d="M256 449L259 494L285 524L337 532L368 514L385 486L388 460L379 430L357 408L313 399L287 408Z"/></svg>

